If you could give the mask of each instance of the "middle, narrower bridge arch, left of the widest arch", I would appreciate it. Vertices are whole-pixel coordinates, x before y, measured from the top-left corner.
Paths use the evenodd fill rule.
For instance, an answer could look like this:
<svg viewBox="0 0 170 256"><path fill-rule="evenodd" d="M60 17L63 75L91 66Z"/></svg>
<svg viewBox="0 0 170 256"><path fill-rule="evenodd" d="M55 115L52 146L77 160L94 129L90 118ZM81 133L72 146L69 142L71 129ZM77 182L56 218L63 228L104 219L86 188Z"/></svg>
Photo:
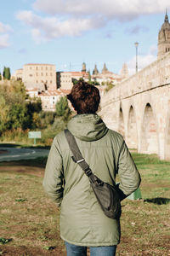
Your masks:
<svg viewBox="0 0 170 256"><path fill-rule="evenodd" d="M134 108L131 105L128 112L127 119L127 146L128 148L138 148L138 133L136 116L134 113Z"/></svg>

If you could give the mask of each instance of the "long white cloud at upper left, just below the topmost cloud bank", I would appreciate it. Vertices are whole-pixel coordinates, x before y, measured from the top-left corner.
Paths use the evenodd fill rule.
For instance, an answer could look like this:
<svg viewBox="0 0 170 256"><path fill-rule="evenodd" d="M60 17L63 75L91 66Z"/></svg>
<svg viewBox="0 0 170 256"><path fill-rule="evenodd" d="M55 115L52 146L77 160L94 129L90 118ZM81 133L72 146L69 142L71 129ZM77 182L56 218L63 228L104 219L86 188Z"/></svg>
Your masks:
<svg viewBox="0 0 170 256"><path fill-rule="evenodd" d="M61 20L56 17L42 18L31 11L20 11L16 17L31 27L32 37L37 43L40 43L42 40L65 36L81 36L82 32L87 32L105 24L104 20L86 18L70 18L68 20Z"/></svg>

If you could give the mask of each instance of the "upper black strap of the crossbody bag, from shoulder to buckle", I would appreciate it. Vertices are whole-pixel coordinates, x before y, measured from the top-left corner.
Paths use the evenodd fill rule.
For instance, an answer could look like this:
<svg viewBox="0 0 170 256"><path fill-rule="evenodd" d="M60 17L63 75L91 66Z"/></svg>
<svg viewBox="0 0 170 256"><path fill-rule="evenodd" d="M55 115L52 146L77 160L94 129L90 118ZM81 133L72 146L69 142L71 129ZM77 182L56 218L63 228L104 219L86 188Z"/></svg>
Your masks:
<svg viewBox="0 0 170 256"><path fill-rule="evenodd" d="M65 130L65 137L69 144L69 148L71 149L71 153L73 154L72 160L74 160L79 166L81 166L82 170L89 177L92 174L90 167L88 166L85 159L82 157L82 153L78 148L77 141L75 137L72 135L71 131L68 129Z"/></svg>

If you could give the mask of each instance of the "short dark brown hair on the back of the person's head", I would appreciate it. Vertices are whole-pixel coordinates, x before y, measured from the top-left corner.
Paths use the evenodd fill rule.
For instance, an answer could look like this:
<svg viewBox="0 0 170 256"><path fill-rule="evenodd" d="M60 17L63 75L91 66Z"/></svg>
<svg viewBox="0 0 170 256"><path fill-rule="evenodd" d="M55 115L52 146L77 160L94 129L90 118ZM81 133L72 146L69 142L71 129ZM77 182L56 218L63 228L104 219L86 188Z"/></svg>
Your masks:
<svg viewBox="0 0 170 256"><path fill-rule="evenodd" d="M99 108L99 89L82 80L73 85L67 98L77 113L96 113Z"/></svg>

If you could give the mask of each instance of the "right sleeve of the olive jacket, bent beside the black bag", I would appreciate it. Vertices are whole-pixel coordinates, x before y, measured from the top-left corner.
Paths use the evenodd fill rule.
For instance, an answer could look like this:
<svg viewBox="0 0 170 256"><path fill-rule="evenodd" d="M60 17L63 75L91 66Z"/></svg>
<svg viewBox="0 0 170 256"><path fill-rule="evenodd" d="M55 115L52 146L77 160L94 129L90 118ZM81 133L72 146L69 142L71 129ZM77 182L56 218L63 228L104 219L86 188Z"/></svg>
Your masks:
<svg viewBox="0 0 170 256"><path fill-rule="evenodd" d="M124 141L118 158L118 175L120 183L117 184L117 189L122 200L138 189L141 181L137 167Z"/></svg>

